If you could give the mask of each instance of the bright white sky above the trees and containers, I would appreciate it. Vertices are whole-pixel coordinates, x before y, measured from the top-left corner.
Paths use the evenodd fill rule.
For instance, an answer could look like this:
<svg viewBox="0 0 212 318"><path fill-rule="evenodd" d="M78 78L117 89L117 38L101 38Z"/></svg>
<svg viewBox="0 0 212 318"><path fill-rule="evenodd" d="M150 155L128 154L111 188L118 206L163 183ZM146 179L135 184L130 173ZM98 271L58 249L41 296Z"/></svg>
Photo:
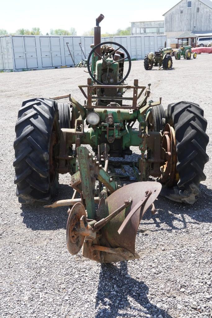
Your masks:
<svg viewBox="0 0 212 318"><path fill-rule="evenodd" d="M39 27L43 34L50 29L74 27L77 35L90 30L95 18L104 14L102 33L125 29L131 21L163 20L163 13L179 1L73 1L73 0L10 0L1 1L0 29L8 32ZM96 6L95 6L96 3ZM103 4L102 4L103 3ZM151 4L151 8L150 8Z"/></svg>

